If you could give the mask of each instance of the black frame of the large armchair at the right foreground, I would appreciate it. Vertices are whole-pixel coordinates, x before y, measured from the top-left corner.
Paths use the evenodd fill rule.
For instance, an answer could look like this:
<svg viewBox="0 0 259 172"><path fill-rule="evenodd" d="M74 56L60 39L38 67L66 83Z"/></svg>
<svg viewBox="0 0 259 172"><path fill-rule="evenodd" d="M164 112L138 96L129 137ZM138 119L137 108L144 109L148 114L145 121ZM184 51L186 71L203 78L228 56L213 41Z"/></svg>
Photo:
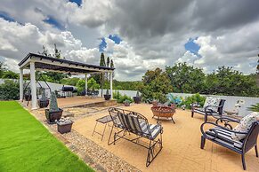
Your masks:
<svg viewBox="0 0 259 172"><path fill-rule="evenodd" d="M231 121L230 118L219 118L217 121ZM235 120L232 120L232 122L237 122ZM246 137L243 139L243 145L242 148L236 148L236 147L231 147L230 145L225 145L222 142L218 142L215 139L218 138L218 133L216 130L211 129L211 131L214 132L214 137L212 136L208 136L204 130L204 125L206 124L212 124L216 127L219 127L221 129L225 129L226 131L231 131L233 133L237 133L237 134L246 134ZM200 148L204 149L205 143L206 143L206 139L214 142L215 144L218 145L222 145L223 147L226 147L228 149L231 149L234 152L238 152L239 154L241 154L241 159L242 159L242 165L243 165L243 169L246 170L247 166L246 166L246 160L245 160L245 154L246 152L248 152L250 149L252 149L253 147L255 147L255 155L256 157L258 157L258 151L257 151L257 137L258 137L258 133L259 133L259 121L255 121L252 125L252 127L247 131L247 132L239 132L239 131L234 131L228 128L224 128L223 126L220 126L216 123L213 122L204 122L201 126L200 126L200 131L202 133L201 136L201 143L200 143Z"/></svg>

